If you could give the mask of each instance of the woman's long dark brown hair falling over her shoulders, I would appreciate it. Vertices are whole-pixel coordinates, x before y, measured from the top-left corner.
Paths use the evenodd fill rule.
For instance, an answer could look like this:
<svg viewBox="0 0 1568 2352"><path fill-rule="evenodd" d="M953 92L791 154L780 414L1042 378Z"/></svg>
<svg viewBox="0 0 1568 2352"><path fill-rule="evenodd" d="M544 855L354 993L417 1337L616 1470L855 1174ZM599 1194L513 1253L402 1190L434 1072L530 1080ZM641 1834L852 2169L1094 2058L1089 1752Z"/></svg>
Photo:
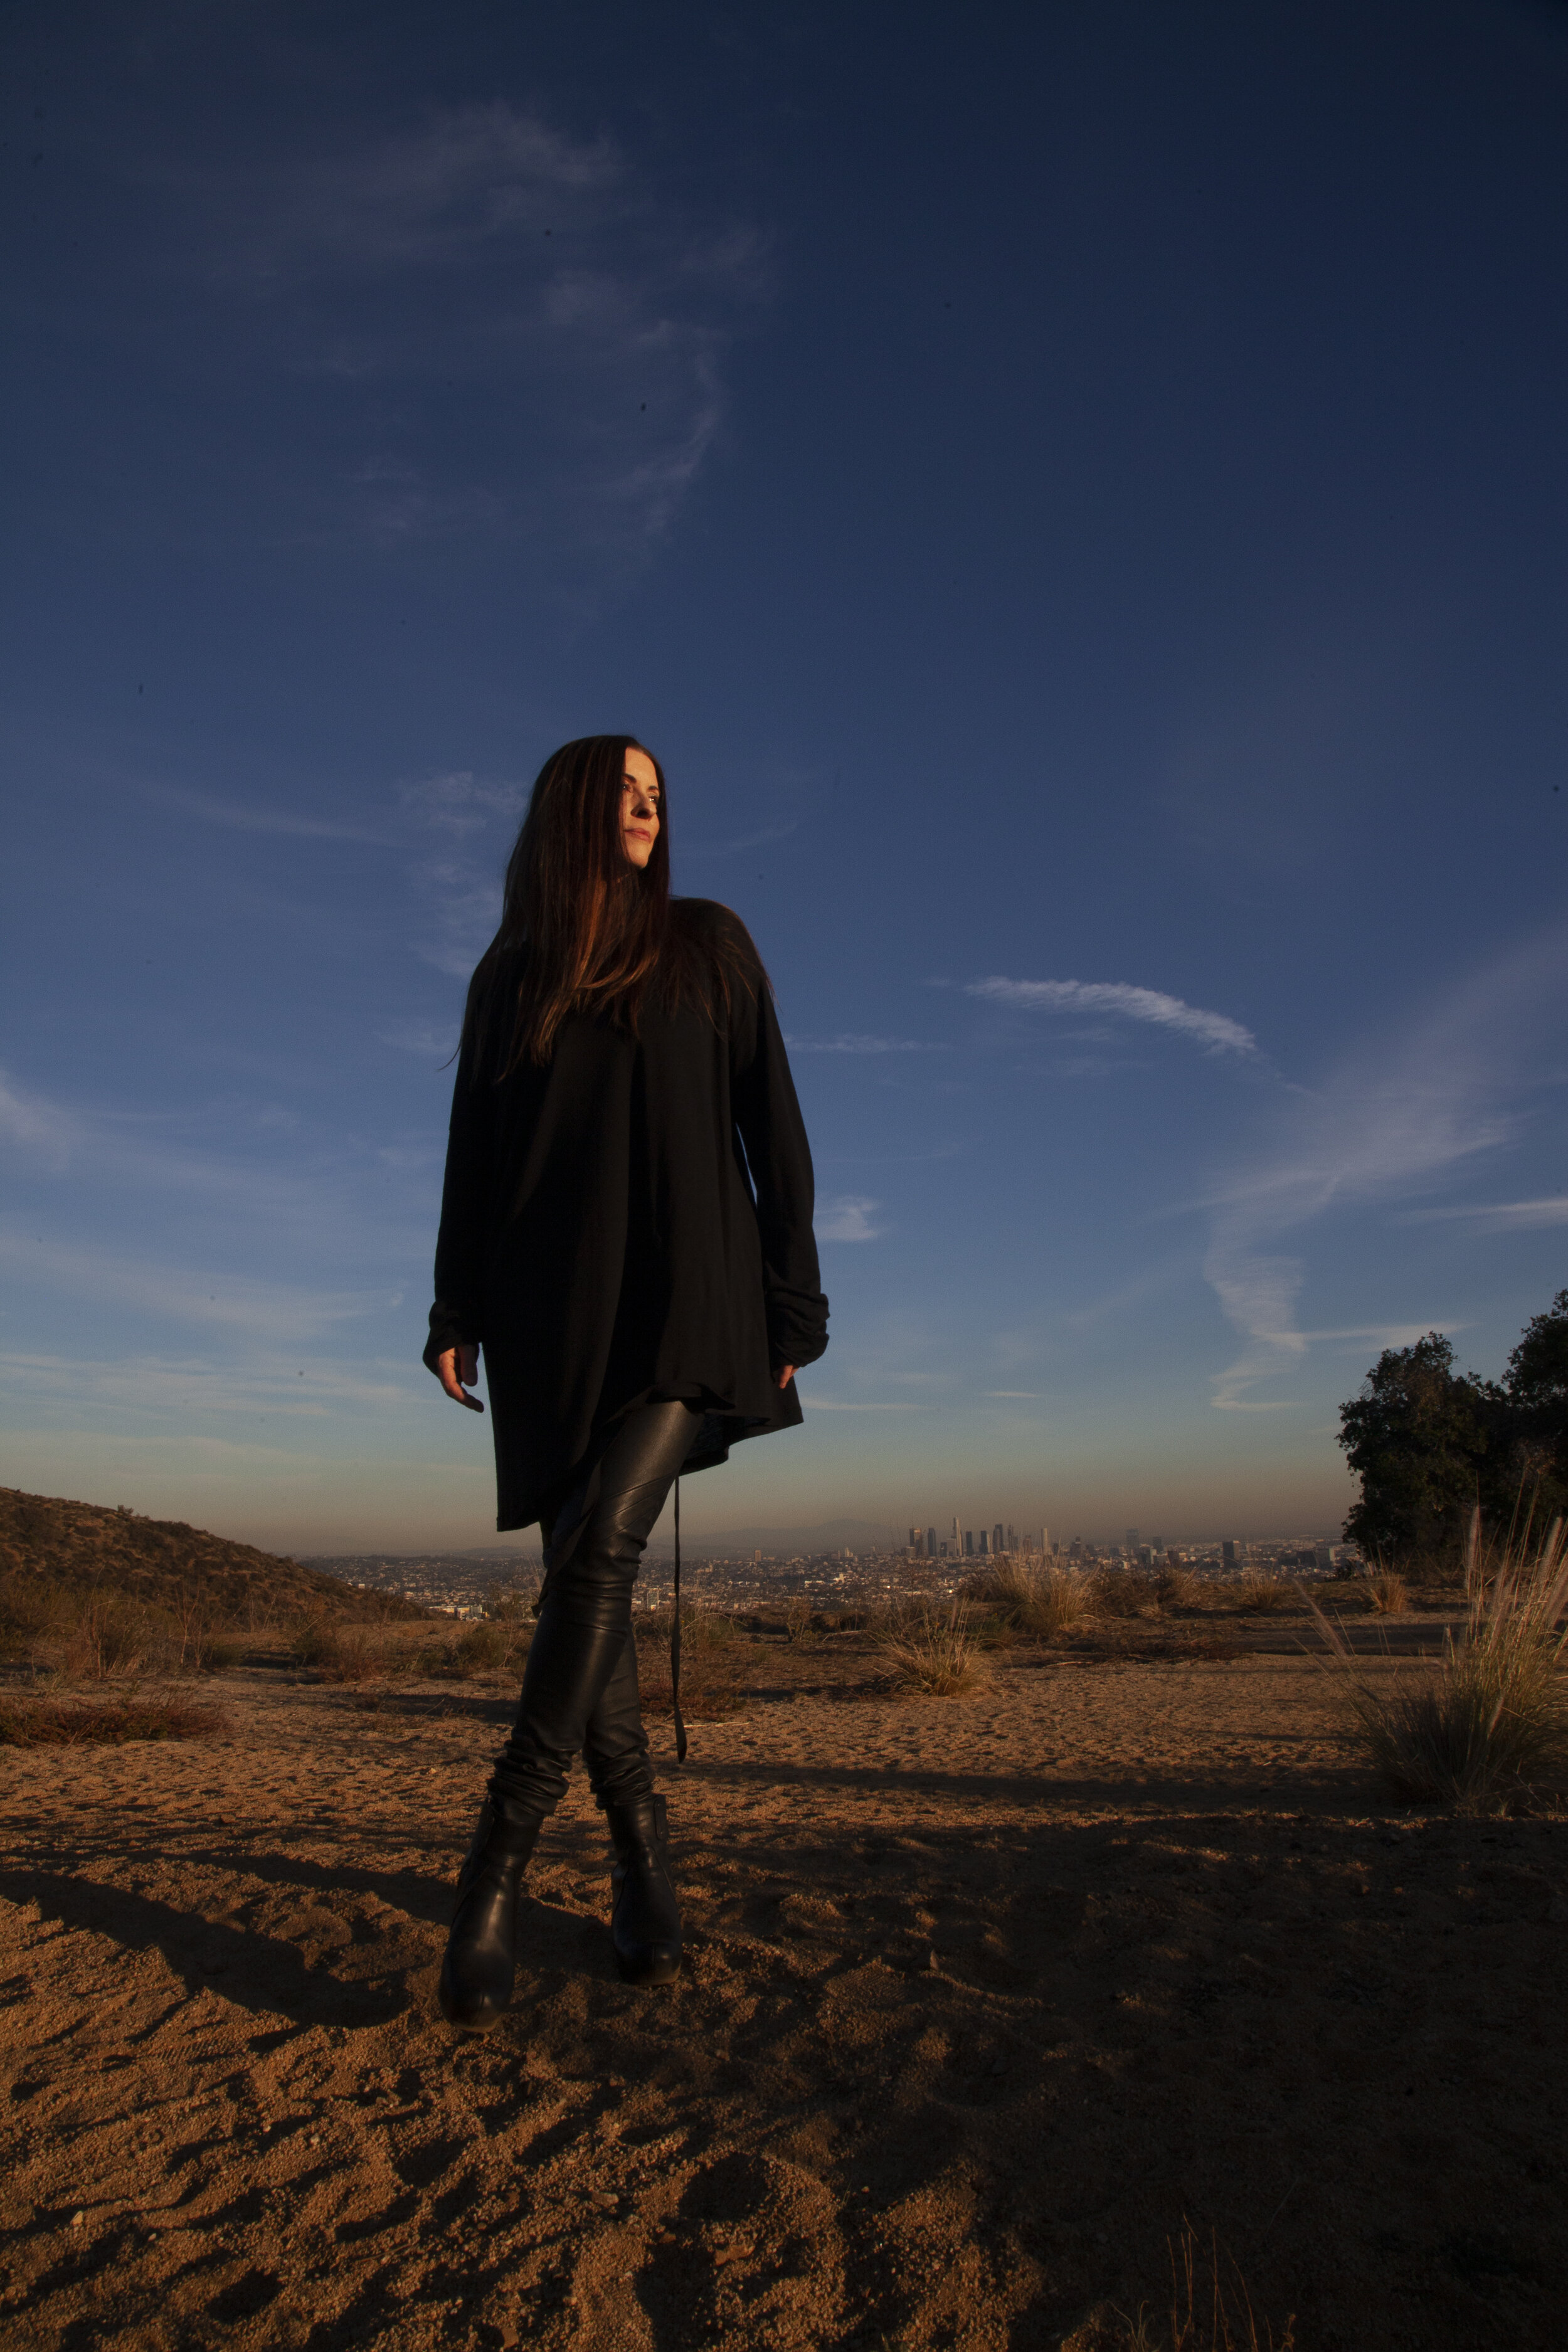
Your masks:
<svg viewBox="0 0 1568 2352"><path fill-rule="evenodd" d="M658 776L658 833L644 868L621 842L625 755ZM501 981L508 950L527 948L515 990ZM602 1014L637 1035L649 990L665 1004L729 1009L741 974L729 941L698 943L670 898L665 771L637 736L578 736L550 753L529 795L505 866L501 929L468 990L463 1042L496 1051L496 1077L545 1063L569 1014ZM487 1056L489 1058L489 1056Z"/></svg>

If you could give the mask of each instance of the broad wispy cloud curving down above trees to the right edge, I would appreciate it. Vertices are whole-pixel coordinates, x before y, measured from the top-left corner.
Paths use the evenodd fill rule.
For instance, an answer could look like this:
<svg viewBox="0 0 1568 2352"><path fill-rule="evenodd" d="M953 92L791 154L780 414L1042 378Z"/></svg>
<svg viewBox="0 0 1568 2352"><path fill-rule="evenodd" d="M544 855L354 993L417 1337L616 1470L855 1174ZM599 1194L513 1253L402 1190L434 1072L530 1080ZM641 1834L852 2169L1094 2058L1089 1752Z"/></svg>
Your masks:
<svg viewBox="0 0 1568 2352"><path fill-rule="evenodd" d="M1251 1390L1295 1369L1312 1341L1295 1324L1302 1263L1279 1244L1331 1209L1432 1192L1516 1141L1530 1087L1559 1065L1563 1007L1568 929L1556 929L1455 988L1403 1037L1366 1044L1321 1089L1281 1101L1272 1148L1213 1195L1204 1272L1244 1341L1215 1381L1220 1411L1276 1409L1284 1399L1265 1406ZM1519 1225L1563 1221L1556 1202L1455 1221L1507 1228L1509 1207Z"/></svg>

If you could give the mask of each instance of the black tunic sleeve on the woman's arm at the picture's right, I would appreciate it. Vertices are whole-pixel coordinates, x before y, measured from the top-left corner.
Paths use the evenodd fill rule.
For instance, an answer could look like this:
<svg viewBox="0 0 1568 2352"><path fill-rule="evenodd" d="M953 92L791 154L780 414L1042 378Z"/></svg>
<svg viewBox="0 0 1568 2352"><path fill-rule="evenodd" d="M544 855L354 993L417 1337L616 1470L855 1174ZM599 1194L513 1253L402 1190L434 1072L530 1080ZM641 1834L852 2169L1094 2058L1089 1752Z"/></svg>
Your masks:
<svg viewBox="0 0 1568 2352"><path fill-rule="evenodd" d="M811 1232L816 1178L790 1056L762 967L745 1009L736 1011L731 1105L757 1197L769 1352L776 1367L816 1364L827 1348L827 1298Z"/></svg>

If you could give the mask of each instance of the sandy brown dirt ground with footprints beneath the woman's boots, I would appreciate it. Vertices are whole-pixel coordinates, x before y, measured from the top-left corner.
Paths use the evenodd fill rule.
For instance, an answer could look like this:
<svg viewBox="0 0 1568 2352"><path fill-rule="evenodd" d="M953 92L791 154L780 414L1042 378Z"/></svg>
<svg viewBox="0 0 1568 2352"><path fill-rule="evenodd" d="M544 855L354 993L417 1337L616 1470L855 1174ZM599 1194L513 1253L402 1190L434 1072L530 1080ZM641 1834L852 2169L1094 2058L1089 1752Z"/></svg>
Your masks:
<svg viewBox="0 0 1568 2352"><path fill-rule="evenodd" d="M1561 2345L1561 1820L1394 1809L1288 1639L818 1684L656 1726L663 1992L578 1778L484 2042L498 1686L254 1665L223 1740L0 1752L0 2345L1056 2352L1182 2218L1300 2352Z"/></svg>

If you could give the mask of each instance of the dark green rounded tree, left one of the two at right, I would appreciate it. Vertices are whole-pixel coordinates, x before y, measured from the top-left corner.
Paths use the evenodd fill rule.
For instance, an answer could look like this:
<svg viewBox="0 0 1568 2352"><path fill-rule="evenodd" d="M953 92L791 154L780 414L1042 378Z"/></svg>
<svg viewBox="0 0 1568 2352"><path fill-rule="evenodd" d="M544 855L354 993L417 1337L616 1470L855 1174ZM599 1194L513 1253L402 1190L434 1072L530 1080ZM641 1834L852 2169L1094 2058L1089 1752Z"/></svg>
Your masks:
<svg viewBox="0 0 1568 2352"><path fill-rule="evenodd" d="M1361 1479L1345 1536L1366 1555L1453 1557L1483 1498L1497 1390L1453 1369L1453 1343L1427 1331L1385 1348L1361 1395L1340 1406L1340 1444Z"/></svg>

